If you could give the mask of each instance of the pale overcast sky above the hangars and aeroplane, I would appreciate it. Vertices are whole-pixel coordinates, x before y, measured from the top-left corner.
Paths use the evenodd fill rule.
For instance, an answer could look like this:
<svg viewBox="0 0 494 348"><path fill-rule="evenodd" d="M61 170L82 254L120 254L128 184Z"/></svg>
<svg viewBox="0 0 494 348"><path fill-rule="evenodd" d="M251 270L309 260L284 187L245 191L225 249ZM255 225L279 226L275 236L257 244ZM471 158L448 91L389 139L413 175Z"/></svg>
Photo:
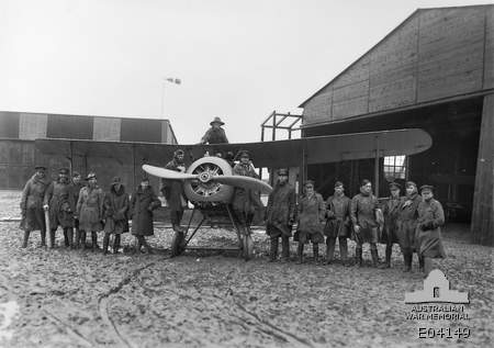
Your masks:
<svg viewBox="0 0 494 348"><path fill-rule="evenodd" d="M0 110L164 116L182 144L220 116L256 142L417 8L478 3L0 0Z"/></svg>

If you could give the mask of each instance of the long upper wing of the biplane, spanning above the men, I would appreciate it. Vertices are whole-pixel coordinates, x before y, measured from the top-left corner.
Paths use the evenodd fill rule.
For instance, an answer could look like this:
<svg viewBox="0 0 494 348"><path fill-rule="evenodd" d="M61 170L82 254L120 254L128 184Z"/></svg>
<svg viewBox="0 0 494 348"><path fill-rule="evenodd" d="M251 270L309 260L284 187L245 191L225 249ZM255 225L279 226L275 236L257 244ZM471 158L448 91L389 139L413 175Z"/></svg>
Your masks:
<svg viewBox="0 0 494 348"><path fill-rule="evenodd" d="M306 137L300 139L216 144L216 145L168 145L156 143L96 142L72 139L36 139L36 148L44 154L65 157L106 157L117 161L141 166L155 164L162 166L177 148L186 151L186 162L190 165L215 153L247 149L252 155L256 167L299 167L306 164L335 162L349 159L383 156L413 155L425 151L433 141L425 131L418 128L383 132L368 132L341 135Z"/></svg>

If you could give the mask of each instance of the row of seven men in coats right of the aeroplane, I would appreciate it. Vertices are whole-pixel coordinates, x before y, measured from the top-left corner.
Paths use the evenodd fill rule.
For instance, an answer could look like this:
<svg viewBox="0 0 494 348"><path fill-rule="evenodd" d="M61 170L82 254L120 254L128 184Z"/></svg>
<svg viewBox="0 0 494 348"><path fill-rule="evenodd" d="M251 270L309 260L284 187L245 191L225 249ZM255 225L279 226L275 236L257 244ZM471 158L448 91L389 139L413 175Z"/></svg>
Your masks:
<svg viewBox="0 0 494 348"><path fill-rule="evenodd" d="M446 257L440 237L445 223L441 204L434 199L434 188L425 184L418 194L417 184L408 181L406 193L401 186L390 183L390 197L380 203L372 194L372 183L362 180L360 192L352 199L345 194L343 182L337 181L334 194L326 201L315 192L314 181L307 180L304 192L296 202L295 190L288 182L288 169L278 170L278 180L268 199L267 233L270 236L270 261L278 259L281 238L282 261L290 259L292 226L297 222L294 240L299 242L297 262L304 262L304 245L312 243L314 261L319 263L318 245L326 243L326 263L334 262L336 238L341 262L349 266L347 239L356 242L355 259L363 265L362 246L370 244L372 265L378 266L378 243L385 244L385 266L391 267L393 244L403 252L404 271L412 271L413 254L418 255L419 269L426 274L431 258ZM325 240L326 239L326 240Z"/></svg>

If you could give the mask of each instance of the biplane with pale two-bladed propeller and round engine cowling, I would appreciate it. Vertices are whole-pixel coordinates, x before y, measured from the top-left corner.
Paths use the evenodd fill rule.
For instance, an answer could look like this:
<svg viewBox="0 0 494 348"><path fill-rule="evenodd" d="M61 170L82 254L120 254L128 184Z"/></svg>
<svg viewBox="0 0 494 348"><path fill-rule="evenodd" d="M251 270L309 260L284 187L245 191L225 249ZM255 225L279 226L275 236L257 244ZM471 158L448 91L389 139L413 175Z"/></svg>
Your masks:
<svg viewBox="0 0 494 348"><path fill-rule="evenodd" d="M175 232L171 244L172 256L186 250L205 221L226 218L237 234L238 250L245 259L249 259L254 252L250 228L242 226L235 218L229 202L235 188L269 193L271 187L259 179L232 175L231 164L223 158L210 156L211 154L237 153L246 149L251 154L257 168L304 168L313 164L408 156L425 151L431 144L429 134L419 128L214 145L36 139L36 148L42 154L61 155L71 164L75 158L113 158L122 165L124 161L131 161L134 172L136 168L142 167L151 176L167 180L182 180L186 195L194 207L186 232ZM184 173L161 168L178 148L186 153L188 169ZM191 227L197 212L201 213L202 218L197 226Z"/></svg>

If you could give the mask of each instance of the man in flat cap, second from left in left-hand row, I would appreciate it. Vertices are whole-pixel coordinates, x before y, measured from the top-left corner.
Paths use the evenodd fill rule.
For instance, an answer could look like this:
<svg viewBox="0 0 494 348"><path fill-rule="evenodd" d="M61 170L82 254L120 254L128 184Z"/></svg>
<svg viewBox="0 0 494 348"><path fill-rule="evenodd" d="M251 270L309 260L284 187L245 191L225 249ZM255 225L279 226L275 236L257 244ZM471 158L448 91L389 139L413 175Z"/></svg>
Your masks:
<svg viewBox="0 0 494 348"><path fill-rule="evenodd" d="M49 239L50 247L55 247L55 232L58 226L64 231L64 244L66 247L72 247L74 243L74 207L76 203L70 194L69 170L61 168L58 170L58 178L53 181L46 192L44 199L44 209L49 215Z"/></svg>

